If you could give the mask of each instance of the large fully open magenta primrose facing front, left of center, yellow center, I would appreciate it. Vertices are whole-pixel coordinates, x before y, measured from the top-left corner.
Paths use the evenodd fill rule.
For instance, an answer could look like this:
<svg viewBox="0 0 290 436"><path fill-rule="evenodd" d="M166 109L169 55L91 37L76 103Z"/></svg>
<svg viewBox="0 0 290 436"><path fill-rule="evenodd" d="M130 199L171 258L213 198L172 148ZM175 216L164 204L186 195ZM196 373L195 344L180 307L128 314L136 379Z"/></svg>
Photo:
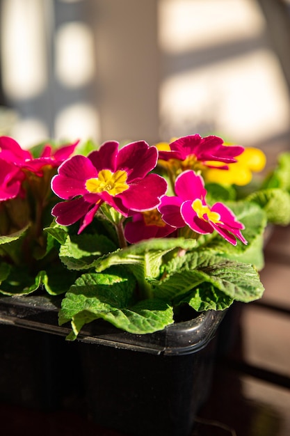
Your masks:
<svg viewBox="0 0 290 436"><path fill-rule="evenodd" d="M58 224L70 226L81 219L81 233L102 203L124 217L159 205L167 182L150 173L158 159L156 147L145 141L129 143L120 150L118 146L116 141L107 141L88 157L75 155L61 164L51 180L54 193L67 200L51 211Z"/></svg>

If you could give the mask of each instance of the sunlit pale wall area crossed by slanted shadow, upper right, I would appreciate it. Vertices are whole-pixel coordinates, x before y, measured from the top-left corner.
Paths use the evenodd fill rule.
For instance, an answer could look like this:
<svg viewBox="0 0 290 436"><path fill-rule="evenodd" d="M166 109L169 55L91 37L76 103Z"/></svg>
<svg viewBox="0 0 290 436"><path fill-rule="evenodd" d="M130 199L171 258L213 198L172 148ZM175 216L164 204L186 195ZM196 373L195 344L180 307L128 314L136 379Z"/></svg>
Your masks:
<svg viewBox="0 0 290 436"><path fill-rule="evenodd" d="M242 143L289 134L289 93L252 0L161 0L161 135Z"/></svg>

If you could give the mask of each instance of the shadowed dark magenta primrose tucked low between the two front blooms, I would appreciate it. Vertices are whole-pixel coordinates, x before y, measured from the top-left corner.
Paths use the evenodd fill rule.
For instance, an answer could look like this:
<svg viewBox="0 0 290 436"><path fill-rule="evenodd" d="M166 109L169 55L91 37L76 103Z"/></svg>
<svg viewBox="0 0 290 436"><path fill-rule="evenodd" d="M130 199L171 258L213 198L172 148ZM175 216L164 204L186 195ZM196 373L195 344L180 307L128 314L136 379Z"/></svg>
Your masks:
<svg viewBox="0 0 290 436"><path fill-rule="evenodd" d="M175 230L176 227L163 221L161 213L155 208L147 212L136 212L124 228L124 236L130 244L135 244L145 239L165 238Z"/></svg>

